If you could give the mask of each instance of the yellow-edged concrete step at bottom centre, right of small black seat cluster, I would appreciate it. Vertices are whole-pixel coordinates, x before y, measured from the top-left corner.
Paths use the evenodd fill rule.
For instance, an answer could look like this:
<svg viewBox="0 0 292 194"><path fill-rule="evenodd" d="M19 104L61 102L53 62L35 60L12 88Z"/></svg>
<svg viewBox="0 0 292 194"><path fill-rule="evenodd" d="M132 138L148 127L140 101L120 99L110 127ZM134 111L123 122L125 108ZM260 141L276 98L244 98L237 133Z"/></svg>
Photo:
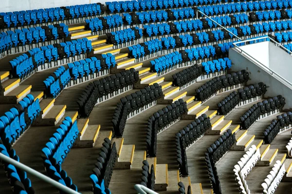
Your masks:
<svg viewBox="0 0 292 194"><path fill-rule="evenodd" d="M168 186L168 165L157 164L155 172L155 191L166 191Z"/></svg>

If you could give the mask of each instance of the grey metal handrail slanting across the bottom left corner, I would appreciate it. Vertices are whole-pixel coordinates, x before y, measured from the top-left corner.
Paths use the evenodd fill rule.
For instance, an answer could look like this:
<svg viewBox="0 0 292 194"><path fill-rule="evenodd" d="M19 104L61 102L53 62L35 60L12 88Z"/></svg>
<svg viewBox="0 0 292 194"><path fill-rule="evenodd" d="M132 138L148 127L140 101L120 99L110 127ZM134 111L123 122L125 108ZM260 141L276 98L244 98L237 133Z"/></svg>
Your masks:
<svg viewBox="0 0 292 194"><path fill-rule="evenodd" d="M0 153L0 160L5 161L7 163L11 163L15 167L20 168L21 170L26 171L27 173L32 174L33 176L53 185L54 187L58 188L59 190L65 192L66 194L80 194L78 192L75 192L73 189L70 189L69 187L66 187L65 185L62 185L61 183L53 180L52 178L49 178L49 177L37 172L36 170L24 165L23 163L20 163L18 161L15 161L15 160L5 156L2 153Z"/></svg>

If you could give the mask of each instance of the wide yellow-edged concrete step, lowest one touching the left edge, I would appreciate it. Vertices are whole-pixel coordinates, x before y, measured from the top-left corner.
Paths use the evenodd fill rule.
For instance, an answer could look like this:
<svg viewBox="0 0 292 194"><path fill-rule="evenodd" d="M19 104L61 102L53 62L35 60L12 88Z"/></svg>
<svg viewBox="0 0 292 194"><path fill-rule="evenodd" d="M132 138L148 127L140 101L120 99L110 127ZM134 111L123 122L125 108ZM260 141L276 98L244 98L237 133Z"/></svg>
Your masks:
<svg viewBox="0 0 292 194"><path fill-rule="evenodd" d="M32 85L18 85L5 96L0 96L0 104L17 104L30 93L31 89Z"/></svg>

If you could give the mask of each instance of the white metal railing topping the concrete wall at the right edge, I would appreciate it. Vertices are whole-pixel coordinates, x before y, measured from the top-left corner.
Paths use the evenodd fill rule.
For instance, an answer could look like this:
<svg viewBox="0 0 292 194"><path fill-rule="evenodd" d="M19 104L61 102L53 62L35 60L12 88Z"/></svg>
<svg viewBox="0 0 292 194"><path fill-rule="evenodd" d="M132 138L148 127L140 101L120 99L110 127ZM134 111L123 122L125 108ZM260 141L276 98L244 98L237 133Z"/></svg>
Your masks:
<svg viewBox="0 0 292 194"><path fill-rule="evenodd" d="M270 40L270 42L273 42L276 46L280 47L281 49L284 49L285 51L287 51L289 54L292 54L292 52L288 49L286 49L285 47L283 47L281 44L277 43L276 41L274 41L272 38L268 37L268 36L265 36L265 37L259 37L259 38L254 38L254 39L251 39L251 40L243 40L243 41L240 41L240 42L236 42L236 43L232 43L234 47L236 47L239 52L242 54L244 53L245 55L247 55L248 57L252 58L253 60L255 60L258 64L262 65L262 67L266 68L268 71L270 71L270 74L271 75L276 75L278 78L280 78L281 80L285 81L289 86L290 88L292 88L292 83L288 80L286 80L285 78L283 78L282 76L280 76L279 74L277 74L276 72L274 72L272 69L270 69L269 67L263 65L262 63L260 63L258 60L256 60L254 57L252 57L251 55L249 55L247 52L245 52L244 50L240 49L240 47L238 45L241 45L242 43L244 45L246 45L247 42L251 42L251 41L256 41L256 40L261 40L261 39L264 39L264 41L266 41L267 39Z"/></svg>

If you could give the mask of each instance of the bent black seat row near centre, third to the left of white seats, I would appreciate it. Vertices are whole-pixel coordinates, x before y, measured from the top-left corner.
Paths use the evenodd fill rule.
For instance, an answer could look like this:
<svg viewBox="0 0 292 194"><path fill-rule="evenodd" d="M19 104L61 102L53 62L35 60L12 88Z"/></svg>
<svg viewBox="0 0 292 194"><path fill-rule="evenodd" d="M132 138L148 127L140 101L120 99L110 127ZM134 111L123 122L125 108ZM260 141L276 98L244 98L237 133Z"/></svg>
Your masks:
<svg viewBox="0 0 292 194"><path fill-rule="evenodd" d="M179 119L186 112L186 102L183 99L179 99L149 117L146 135L146 154L148 157L156 156L157 133Z"/></svg>

